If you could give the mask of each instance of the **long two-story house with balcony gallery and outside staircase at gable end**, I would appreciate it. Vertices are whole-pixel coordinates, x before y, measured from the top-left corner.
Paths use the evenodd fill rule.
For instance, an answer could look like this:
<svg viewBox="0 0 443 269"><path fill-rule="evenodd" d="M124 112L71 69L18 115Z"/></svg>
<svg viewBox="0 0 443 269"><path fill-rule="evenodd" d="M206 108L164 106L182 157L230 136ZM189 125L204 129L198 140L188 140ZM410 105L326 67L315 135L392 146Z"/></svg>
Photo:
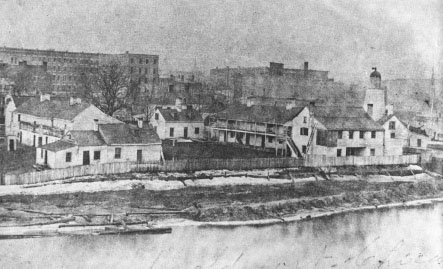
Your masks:
<svg viewBox="0 0 443 269"><path fill-rule="evenodd" d="M308 154L312 132L308 107L231 105L211 117L212 140L275 150L277 155Z"/></svg>

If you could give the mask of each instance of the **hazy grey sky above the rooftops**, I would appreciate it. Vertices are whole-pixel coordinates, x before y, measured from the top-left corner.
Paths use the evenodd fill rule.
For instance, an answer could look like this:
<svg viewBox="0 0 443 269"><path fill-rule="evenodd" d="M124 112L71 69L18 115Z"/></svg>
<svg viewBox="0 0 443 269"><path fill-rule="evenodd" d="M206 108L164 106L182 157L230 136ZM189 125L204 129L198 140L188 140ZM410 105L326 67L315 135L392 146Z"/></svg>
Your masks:
<svg viewBox="0 0 443 269"><path fill-rule="evenodd" d="M0 0L0 45L160 55L163 70L267 66L336 80L443 72L441 0Z"/></svg>

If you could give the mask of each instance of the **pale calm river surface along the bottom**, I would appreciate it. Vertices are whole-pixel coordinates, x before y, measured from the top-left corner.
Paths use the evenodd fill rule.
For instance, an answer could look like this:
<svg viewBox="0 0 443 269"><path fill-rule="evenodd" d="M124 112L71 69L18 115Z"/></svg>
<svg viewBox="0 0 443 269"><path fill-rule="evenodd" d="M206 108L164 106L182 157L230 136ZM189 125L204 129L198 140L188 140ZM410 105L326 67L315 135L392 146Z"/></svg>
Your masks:
<svg viewBox="0 0 443 269"><path fill-rule="evenodd" d="M266 227L0 241L0 268L443 268L443 204Z"/></svg>

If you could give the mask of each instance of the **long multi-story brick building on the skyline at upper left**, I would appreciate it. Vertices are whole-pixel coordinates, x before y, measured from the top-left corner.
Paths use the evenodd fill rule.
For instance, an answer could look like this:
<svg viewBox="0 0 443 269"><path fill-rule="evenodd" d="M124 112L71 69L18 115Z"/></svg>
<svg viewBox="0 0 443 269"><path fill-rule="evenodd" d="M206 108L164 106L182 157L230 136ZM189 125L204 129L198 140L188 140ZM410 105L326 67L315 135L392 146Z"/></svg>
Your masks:
<svg viewBox="0 0 443 269"><path fill-rule="evenodd" d="M102 54L56 50L0 47L0 62L10 66L43 66L52 75L53 91L74 92L78 86L79 70L94 71L115 59L141 83L151 85L158 80L158 55Z"/></svg>

